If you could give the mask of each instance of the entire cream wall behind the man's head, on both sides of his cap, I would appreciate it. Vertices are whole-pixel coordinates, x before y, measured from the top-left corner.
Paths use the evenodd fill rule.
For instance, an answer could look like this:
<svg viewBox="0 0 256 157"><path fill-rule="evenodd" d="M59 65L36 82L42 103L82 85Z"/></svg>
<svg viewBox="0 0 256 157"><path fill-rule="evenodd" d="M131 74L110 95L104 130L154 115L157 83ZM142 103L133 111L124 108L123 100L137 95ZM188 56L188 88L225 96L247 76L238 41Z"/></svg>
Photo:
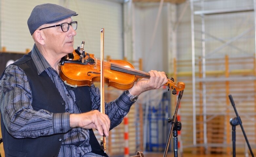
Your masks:
<svg viewBox="0 0 256 157"><path fill-rule="evenodd" d="M105 28L105 55L111 58L123 57L122 4L105 0L45 0L76 11L73 17L78 21L74 48L85 40L85 50L100 56L100 30ZM33 40L29 33L27 20L32 9L42 4L40 0L1 0L1 44L7 51L25 52L31 49ZM58 46L58 45L56 45Z"/></svg>

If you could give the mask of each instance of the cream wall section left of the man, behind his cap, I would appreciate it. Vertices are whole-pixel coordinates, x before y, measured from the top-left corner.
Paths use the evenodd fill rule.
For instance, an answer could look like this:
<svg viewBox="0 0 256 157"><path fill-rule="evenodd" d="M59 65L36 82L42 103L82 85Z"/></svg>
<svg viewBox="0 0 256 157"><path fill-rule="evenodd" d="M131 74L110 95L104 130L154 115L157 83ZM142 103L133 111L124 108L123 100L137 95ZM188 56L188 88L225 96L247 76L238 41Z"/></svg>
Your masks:
<svg viewBox="0 0 256 157"><path fill-rule="evenodd" d="M46 0L46 3L58 3L57 0ZM31 49L33 39L27 21L34 6L41 4L39 0L19 1L1 0L1 46L7 51L25 52Z"/></svg>

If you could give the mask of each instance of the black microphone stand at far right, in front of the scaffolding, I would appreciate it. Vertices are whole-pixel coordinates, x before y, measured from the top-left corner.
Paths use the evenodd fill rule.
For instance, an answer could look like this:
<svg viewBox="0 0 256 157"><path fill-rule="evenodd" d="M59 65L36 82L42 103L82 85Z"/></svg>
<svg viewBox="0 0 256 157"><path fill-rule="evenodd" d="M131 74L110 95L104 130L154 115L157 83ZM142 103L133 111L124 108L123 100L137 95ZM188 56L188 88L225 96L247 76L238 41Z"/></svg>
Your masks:
<svg viewBox="0 0 256 157"><path fill-rule="evenodd" d="M249 150L250 150L251 156L254 157L254 155L253 155L253 153L252 153L251 146L250 146L249 141L248 141L248 139L247 139L247 136L246 136L246 134L245 134L244 127L243 127L243 125L242 125L242 120L241 120L241 118L238 116L238 112L237 112L237 110L236 110L235 103L234 103L234 100L233 100L233 98L232 98L232 95L228 95L228 97L229 97L229 100L230 100L230 102L231 102L231 104L232 104L232 106L233 106L233 108L234 108L234 110L235 110L235 113L236 113L236 117L233 118L233 119L232 119L232 118L230 119L230 124L232 125L233 157L236 156L236 132L235 132L235 130L236 130L236 125L238 125L238 124L240 124L240 126L241 126L241 129L242 129L242 132L243 132L243 134L244 134L244 137L245 137L247 146L248 146L248 148L249 148Z"/></svg>

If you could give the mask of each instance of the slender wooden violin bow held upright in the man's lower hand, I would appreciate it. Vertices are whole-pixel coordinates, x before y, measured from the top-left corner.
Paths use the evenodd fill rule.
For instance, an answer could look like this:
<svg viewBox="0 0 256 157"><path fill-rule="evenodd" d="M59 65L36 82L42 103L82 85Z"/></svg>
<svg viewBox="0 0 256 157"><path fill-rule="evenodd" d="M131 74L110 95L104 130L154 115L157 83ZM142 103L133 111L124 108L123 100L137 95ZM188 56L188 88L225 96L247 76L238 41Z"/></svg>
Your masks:
<svg viewBox="0 0 256 157"><path fill-rule="evenodd" d="M104 28L100 31L100 112L105 114L105 97L104 97ZM103 132L104 133L104 132ZM101 149L106 153L106 136L103 134L100 138Z"/></svg>

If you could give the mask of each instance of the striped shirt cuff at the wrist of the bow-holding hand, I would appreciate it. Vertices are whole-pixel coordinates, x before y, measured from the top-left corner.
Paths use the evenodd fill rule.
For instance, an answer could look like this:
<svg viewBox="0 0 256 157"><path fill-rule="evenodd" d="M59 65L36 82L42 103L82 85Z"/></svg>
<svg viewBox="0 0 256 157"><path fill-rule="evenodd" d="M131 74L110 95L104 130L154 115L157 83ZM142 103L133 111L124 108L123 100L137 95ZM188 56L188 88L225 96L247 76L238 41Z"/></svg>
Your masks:
<svg viewBox="0 0 256 157"><path fill-rule="evenodd" d="M70 113L54 113L52 117L53 132L54 133L66 133L70 129L69 124Z"/></svg>

